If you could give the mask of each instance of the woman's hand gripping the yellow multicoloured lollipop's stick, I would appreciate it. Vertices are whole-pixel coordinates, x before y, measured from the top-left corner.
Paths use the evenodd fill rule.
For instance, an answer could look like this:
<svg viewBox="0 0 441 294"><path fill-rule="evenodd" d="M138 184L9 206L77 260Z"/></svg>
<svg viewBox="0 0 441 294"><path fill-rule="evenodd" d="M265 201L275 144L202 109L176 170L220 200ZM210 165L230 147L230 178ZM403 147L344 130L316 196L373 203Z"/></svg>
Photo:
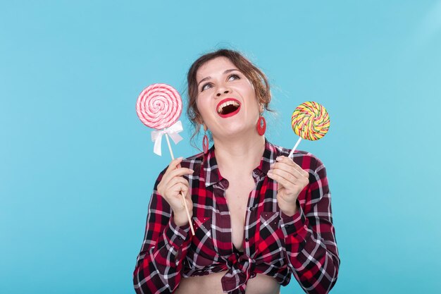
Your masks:
<svg viewBox="0 0 441 294"><path fill-rule="evenodd" d="M297 212L297 197L309 184L309 173L288 157L278 157L271 164L268 177L278 183L277 202L280 210L287 216Z"/></svg>

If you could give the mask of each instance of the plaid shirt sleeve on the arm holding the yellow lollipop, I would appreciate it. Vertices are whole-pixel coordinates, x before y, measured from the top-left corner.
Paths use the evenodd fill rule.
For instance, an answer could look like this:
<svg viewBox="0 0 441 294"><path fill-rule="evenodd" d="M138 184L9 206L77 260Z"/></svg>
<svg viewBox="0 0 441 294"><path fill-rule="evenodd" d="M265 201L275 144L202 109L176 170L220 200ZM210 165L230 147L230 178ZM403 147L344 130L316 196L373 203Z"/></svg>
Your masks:
<svg viewBox="0 0 441 294"><path fill-rule="evenodd" d="M302 205L297 200L297 213L280 212L289 267L303 290L311 294L328 293L340 267L328 178L325 166L316 160L316 169L309 171L306 199Z"/></svg>

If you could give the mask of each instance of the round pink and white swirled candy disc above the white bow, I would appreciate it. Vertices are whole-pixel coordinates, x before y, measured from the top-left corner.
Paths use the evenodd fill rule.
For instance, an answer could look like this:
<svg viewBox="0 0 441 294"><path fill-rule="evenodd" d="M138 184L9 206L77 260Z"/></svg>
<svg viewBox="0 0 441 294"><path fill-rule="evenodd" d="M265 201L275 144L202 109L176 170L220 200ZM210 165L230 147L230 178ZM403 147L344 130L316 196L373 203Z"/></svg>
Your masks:
<svg viewBox="0 0 441 294"><path fill-rule="evenodd" d="M178 121L182 112L182 99L170 85L149 85L139 94L136 112L144 125L161 130Z"/></svg>

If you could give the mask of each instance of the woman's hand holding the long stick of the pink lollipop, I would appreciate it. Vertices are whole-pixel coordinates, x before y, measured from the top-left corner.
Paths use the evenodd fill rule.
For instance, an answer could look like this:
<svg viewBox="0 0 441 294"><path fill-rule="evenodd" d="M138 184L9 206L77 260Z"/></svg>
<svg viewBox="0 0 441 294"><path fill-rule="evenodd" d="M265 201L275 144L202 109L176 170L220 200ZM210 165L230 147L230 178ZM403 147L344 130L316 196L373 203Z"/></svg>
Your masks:
<svg viewBox="0 0 441 294"><path fill-rule="evenodd" d="M180 195L181 192L185 197L185 202L187 202L190 217L193 215L193 202L189 193L190 185L182 176L192 174L194 171L180 167L181 161L182 157L170 162L166 173L163 174L161 182L159 182L157 187L159 195L161 195L166 202L168 202L171 209L173 209L173 221L177 226L185 226L188 223L184 200L182 200L182 196Z"/></svg>

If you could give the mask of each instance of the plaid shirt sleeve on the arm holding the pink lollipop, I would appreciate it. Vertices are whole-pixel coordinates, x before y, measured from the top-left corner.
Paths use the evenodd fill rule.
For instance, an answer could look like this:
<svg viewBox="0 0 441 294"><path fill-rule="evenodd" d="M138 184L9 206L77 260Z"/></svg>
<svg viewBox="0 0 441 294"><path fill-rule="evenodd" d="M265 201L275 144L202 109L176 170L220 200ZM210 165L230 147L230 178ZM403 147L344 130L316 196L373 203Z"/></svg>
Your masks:
<svg viewBox="0 0 441 294"><path fill-rule="evenodd" d="M144 241L133 272L137 294L173 293L179 285L182 262L190 247L190 226L176 226L170 205L156 190L163 173L154 185Z"/></svg>

